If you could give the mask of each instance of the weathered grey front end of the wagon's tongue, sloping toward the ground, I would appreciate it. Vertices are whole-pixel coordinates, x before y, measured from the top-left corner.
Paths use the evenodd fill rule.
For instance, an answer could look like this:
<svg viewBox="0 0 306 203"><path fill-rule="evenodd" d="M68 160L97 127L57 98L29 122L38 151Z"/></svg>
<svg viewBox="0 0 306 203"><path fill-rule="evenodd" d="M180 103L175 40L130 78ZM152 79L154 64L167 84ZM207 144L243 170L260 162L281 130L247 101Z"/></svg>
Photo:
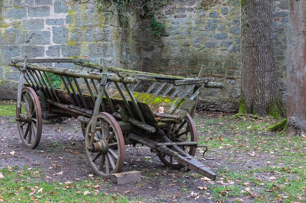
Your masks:
<svg viewBox="0 0 306 203"><path fill-rule="evenodd" d="M193 156L190 156L189 154L186 154L186 157L182 155L176 155L175 158L179 163L186 166L187 168L200 173L201 175L211 179L216 180L216 174L211 171L208 167L200 163L198 160L196 160Z"/></svg>

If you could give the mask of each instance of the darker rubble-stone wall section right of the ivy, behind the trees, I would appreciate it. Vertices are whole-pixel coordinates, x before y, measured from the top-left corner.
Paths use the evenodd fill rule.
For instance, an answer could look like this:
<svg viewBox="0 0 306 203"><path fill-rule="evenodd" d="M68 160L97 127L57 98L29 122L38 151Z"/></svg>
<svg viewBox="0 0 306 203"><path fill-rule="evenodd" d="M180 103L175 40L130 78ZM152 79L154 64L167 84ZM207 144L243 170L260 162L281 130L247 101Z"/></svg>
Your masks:
<svg viewBox="0 0 306 203"><path fill-rule="evenodd" d="M206 89L198 108L237 111L240 98L240 1L173 0L157 11L165 24L161 37L142 34L142 68L155 72L197 76L202 65L205 75L224 84L223 90ZM286 37L288 1L274 1L275 63L279 87L286 94ZM142 20L142 30L149 26Z"/></svg>

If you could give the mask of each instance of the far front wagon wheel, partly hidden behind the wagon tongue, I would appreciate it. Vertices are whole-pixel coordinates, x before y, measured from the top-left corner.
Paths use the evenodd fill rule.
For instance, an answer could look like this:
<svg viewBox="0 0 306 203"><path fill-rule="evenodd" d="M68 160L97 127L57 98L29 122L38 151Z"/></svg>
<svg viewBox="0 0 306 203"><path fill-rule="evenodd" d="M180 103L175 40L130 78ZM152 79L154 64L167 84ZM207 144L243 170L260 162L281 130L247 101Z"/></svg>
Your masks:
<svg viewBox="0 0 306 203"><path fill-rule="evenodd" d="M181 124L173 124L164 130L164 133L174 142L197 141L197 133L191 116L187 113ZM194 146L180 146L189 155L194 156L196 148ZM177 162L173 156L158 154L160 160L168 167L180 169L184 167Z"/></svg>

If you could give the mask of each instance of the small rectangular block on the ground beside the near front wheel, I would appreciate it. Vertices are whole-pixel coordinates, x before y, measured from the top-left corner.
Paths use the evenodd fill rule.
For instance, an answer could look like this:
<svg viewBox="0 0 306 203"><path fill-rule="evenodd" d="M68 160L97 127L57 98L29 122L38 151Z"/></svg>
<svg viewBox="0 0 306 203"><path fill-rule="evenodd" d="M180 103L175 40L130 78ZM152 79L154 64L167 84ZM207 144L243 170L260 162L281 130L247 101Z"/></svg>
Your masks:
<svg viewBox="0 0 306 203"><path fill-rule="evenodd" d="M120 172L120 173L113 173L111 177L112 183L115 184L125 184L125 183L132 183L141 180L141 173L137 170L127 171L127 172Z"/></svg>

